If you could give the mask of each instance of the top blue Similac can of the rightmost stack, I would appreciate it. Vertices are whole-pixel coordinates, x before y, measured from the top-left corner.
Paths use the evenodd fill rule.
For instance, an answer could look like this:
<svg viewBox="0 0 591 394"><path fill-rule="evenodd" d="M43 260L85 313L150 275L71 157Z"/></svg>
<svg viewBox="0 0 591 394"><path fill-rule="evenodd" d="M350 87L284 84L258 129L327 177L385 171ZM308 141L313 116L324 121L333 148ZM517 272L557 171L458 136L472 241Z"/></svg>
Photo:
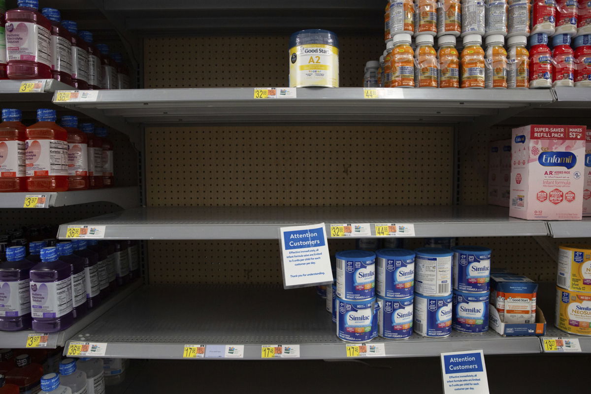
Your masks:
<svg viewBox="0 0 591 394"><path fill-rule="evenodd" d="M491 249L456 246L453 250L453 288L460 291L489 291Z"/></svg>

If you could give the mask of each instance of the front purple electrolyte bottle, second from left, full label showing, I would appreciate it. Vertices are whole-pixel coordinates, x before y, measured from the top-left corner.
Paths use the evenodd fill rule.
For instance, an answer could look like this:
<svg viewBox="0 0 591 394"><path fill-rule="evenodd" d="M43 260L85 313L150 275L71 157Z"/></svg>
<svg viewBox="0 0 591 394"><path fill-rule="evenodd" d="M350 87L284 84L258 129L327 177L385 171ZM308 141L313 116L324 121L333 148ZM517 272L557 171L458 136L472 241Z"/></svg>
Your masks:
<svg viewBox="0 0 591 394"><path fill-rule="evenodd" d="M57 259L57 249L41 249L41 262L31 276L31 316L33 330L55 333L74 322L72 314L72 267Z"/></svg>

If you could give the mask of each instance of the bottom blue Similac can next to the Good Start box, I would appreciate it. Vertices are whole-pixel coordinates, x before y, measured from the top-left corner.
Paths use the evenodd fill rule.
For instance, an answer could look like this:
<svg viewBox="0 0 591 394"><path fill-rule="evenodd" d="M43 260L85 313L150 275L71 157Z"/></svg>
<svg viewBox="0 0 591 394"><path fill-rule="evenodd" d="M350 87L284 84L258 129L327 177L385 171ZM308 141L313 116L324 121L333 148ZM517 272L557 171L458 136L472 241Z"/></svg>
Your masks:
<svg viewBox="0 0 591 394"><path fill-rule="evenodd" d="M489 292L453 291L453 321L456 331L480 334L488 331Z"/></svg>

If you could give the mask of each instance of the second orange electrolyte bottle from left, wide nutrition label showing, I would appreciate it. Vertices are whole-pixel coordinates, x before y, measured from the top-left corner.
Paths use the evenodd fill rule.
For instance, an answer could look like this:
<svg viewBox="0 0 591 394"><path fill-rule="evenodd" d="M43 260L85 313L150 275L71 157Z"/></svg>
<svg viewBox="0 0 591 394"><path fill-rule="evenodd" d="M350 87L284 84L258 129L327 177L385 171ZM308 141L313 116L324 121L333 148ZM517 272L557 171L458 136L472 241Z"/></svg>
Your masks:
<svg viewBox="0 0 591 394"><path fill-rule="evenodd" d="M56 125L56 111L38 109L25 142L28 191L68 190L68 133Z"/></svg>

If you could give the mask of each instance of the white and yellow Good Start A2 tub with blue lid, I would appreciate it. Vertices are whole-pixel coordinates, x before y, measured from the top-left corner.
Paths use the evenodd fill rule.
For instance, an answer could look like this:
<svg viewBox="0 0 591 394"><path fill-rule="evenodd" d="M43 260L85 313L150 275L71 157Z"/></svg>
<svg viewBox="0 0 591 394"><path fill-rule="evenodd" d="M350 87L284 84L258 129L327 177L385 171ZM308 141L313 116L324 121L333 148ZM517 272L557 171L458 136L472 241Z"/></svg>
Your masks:
<svg viewBox="0 0 591 394"><path fill-rule="evenodd" d="M290 38L290 87L339 87L339 39L332 31L297 31Z"/></svg>

